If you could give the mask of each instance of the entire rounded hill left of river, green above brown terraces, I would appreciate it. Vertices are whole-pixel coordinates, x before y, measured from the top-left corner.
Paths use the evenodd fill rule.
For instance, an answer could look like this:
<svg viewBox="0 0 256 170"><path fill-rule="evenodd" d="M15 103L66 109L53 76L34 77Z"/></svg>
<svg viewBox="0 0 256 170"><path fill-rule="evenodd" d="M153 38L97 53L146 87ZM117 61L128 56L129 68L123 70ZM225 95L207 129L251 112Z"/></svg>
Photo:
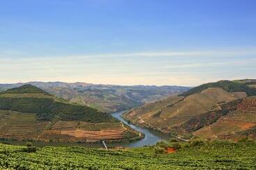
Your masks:
<svg viewBox="0 0 256 170"><path fill-rule="evenodd" d="M43 142L97 142L138 137L110 114L73 105L33 85L0 93L0 137Z"/></svg>

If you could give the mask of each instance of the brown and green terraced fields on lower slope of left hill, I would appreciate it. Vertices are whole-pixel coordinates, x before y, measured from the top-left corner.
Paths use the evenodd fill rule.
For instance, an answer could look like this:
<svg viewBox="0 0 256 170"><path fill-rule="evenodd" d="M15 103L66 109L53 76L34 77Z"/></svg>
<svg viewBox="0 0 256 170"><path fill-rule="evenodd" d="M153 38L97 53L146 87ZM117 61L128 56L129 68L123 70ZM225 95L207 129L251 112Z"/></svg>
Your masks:
<svg viewBox="0 0 256 170"><path fill-rule="evenodd" d="M0 110L0 138L41 142L97 142L137 133L121 122L38 121L33 113Z"/></svg>

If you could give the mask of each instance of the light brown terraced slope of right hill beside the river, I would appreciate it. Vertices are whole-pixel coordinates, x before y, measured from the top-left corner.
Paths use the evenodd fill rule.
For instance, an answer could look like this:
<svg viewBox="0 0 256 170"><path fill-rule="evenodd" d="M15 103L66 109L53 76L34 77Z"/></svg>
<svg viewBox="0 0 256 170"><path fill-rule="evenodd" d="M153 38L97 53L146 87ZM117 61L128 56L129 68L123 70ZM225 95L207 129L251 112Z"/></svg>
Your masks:
<svg viewBox="0 0 256 170"><path fill-rule="evenodd" d="M208 88L190 96L171 96L162 101L148 103L126 113L133 123L170 132L190 119L209 111L220 110L220 105L246 97L245 92L227 92L218 87Z"/></svg>

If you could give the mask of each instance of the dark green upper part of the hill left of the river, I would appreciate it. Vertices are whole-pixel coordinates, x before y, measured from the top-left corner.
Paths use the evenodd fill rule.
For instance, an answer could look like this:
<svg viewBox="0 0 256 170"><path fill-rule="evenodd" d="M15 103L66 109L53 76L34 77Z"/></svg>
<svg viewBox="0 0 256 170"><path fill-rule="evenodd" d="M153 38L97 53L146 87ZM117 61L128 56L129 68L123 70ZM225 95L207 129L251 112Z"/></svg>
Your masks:
<svg viewBox="0 0 256 170"><path fill-rule="evenodd" d="M7 94L12 94L12 96ZM42 97L41 94L44 94L45 97ZM0 93L0 109L35 113L38 119L43 121L52 121L52 119L94 123L115 121L110 114L98 112L96 109L86 106L55 101L53 96L51 98L49 96L51 95L38 87L23 85Z"/></svg>

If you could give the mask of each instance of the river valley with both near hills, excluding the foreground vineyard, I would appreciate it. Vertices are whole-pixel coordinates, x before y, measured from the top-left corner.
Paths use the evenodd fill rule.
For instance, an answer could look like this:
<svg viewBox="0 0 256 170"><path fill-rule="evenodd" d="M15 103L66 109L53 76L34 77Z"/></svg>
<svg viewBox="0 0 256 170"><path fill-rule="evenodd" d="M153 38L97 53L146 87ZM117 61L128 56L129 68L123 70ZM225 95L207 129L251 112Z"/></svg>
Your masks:
<svg viewBox="0 0 256 170"><path fill-rule="evenodd" d="M254 80L208 83L114 114L22 85L0 93L0 138L61 143L106 140L112 146L128 147L170 137L255 139L256 98L251 88L255 84ZM129 141L137 142L119 144Z"/></svg>

